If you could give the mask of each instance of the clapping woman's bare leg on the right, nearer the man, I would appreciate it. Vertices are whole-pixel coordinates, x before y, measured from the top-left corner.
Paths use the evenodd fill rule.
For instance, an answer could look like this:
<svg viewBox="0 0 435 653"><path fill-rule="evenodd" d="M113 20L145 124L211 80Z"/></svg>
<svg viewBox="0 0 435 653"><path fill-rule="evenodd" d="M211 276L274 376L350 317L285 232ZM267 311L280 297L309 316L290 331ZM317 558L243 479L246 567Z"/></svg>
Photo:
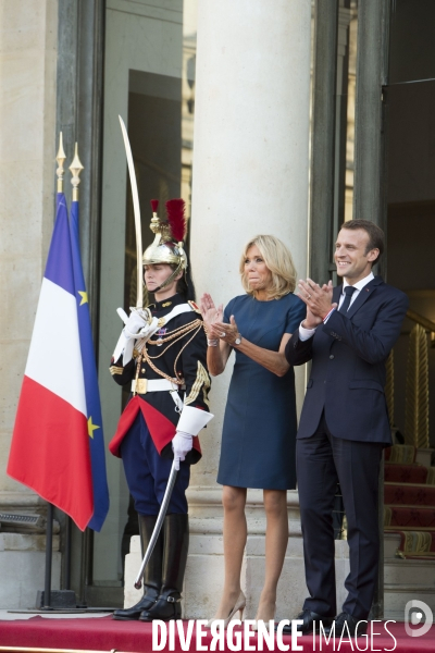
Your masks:
<svg viewBox="0 0 435 653"><path fill-rule="evenodd" d="M283 570L288 544L287 492L264 490L265 577L256 619L269 621L275 616L276 587Z"/></svg>

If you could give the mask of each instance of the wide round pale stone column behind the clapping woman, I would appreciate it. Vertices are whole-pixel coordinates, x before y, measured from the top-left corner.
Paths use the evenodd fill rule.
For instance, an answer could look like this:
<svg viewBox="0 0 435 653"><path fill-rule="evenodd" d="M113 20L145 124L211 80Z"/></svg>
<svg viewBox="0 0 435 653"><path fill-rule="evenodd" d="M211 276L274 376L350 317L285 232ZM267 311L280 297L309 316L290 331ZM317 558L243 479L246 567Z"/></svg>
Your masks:
<svg viewBox="0 0 435 653"><path fill-rule="evenodd" d="M198 296L226 304L243 294L238 264L258 233L288 245L307 273L310 115L310 0L202 0L198 8L191 264ZM185 614L211 617L223 583L221 489L215 484L231 369L213 380L215 419L189 490L191 544ZM303 370L297 396L303 398ZM297 493L277 617L306 593ZM249 539L243 584L253 618L264 572L262 492L248 492Z"/></svg>

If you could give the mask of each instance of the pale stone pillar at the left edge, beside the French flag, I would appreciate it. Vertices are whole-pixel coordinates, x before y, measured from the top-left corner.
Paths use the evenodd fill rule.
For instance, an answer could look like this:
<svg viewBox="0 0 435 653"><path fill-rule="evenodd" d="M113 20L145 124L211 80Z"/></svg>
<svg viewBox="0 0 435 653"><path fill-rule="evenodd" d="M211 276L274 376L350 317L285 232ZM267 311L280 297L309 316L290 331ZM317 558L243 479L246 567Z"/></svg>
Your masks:
<svg viewBox="0 0 435 653"><path fill-rule="evenodd" d="M54 220L58 2L0 0L0 510L42 513L5 468ZM0 607L28 607L44 589L45 535L10 530L0 534ZM57 552L53 589L59 581Z"/></svg>

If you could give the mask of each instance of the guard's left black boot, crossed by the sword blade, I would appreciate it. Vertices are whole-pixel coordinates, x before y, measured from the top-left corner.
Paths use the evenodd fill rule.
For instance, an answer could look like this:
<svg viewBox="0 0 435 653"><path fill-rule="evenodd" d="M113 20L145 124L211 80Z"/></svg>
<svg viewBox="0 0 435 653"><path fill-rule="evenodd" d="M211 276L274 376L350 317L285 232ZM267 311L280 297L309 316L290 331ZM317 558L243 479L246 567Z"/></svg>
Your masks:
<svg viewBox="0 0 435 653"><path fill-rule="evenodd" d="M139 531L140 531L140 549L142 557L147 551L148 543L154 530L157 515L138 515ZM149 609L156 603L160 588L162 586L162 568L163 568L163 533L160 532L154 550L144 571L144 596L133 607L125 609L115 609L113 619L120 621L129 621L138 619L140 613Z"/></svg>

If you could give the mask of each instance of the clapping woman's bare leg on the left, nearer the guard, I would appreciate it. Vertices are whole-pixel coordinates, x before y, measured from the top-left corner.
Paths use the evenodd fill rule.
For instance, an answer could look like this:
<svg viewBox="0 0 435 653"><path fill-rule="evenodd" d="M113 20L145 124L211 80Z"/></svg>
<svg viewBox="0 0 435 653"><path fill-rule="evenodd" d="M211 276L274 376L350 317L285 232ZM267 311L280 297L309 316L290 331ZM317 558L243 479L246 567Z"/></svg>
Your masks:
<svg viewBox="0 0 435 653"><path fill-rule="evenodd" d="M240 595L240 572L247 538L245 516L246 488L224 485L224 559L225 581L216 619L225 619Z"/></svg>

